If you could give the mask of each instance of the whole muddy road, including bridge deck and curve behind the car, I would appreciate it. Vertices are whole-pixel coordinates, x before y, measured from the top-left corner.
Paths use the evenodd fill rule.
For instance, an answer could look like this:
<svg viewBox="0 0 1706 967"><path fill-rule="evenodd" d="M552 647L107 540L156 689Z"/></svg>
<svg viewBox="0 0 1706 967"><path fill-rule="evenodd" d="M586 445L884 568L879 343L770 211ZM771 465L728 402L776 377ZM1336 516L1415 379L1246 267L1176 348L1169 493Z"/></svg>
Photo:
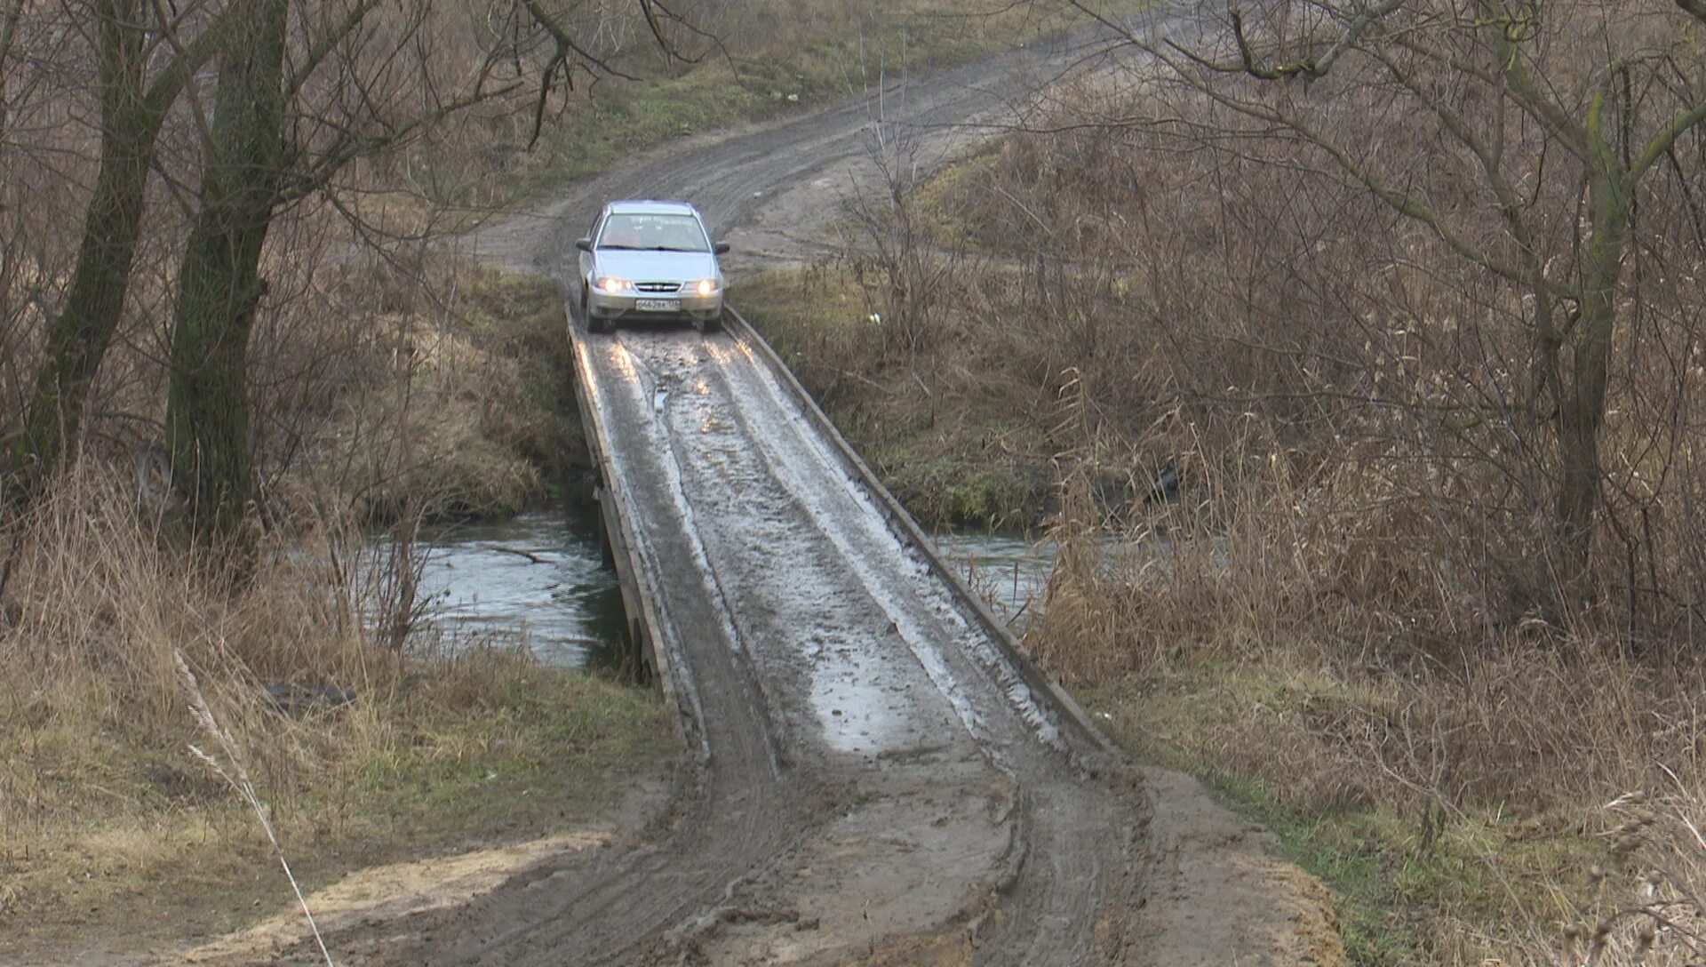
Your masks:
<svg viewBox="0 0 1706 967"><path fill-rule="evenodd" d="M1082 34L913 80L880 107L682 142L473 247L565 278L602 201L652 196L699 205L737 247L732 275L810 258L870 176L879 111L928 167L1022 113L1015 90L1109 46ZM754 343L624 329L580 336L577 355L689 764L626 836L341 931L343 962L1332 960L1319 889L1274 889L1286 873L1245 825L1027 684Z"/></svg>

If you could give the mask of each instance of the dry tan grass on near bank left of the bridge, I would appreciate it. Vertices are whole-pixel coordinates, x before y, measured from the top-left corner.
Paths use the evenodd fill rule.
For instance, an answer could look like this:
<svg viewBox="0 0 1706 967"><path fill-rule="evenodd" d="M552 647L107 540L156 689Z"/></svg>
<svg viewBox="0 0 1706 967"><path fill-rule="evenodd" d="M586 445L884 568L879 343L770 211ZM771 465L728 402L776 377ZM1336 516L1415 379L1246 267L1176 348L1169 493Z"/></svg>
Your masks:
<svg viewBox="0 0 1706 967"><path fill-rule="evenodd" d="M188 750L174 651L307 887L370 863L595 817L618 767L669 756L648 692L512 651L392 648L355 527L268 541L241 590L82 469L12 534L0 633L0 958L176 943L287 899L273 843ZM270 684L348 708L285 715ZM271 866L271 873L266 873ZM172 883L165 889L165 883ZM70 945L70 947L65 947Z"/></svg>

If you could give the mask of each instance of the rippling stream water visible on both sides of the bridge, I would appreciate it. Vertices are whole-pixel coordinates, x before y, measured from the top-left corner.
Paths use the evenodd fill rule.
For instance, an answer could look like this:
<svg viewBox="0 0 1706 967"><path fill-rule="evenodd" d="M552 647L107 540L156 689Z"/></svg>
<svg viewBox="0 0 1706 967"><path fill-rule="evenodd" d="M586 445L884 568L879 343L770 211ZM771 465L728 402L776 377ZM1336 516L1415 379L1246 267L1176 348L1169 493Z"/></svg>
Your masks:
<svg viewBox="0 0 1706 967"><path fill-rule="evenodd" d="M525 646L549 667L612 667L623 655L616 571L599 553L597 508L554 507L421 534L425 621L452 648ZM945 534L937 549L998 616L1042 599L1053 547L1005 534Z"/></svg>

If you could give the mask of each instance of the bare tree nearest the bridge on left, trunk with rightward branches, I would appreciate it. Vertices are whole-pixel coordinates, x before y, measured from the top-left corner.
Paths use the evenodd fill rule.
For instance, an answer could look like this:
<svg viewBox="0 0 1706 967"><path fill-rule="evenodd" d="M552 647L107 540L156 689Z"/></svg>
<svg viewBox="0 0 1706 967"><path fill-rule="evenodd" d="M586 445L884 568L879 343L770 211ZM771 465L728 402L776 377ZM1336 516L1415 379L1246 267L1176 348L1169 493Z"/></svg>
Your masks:
<svg viewBox="0 0 1706 967"><path fill-rule="evenodd" d="M657 43L669 44L662 7L641 0L640 9ZM491 77L505 58L520 56L522 39L488 49L457 77L433 56L444 15L425 0L258 0L225 15L234 29L218 55L198 211L177 276L165 430L176 488L193 498L198 530L229 539L239 536L252 496L247 348L266 295L261 259L275 215L322 191L351 160L517 90L519 78ZM536 0L520 0L508 17L517 31L525 22L551 38L537 104L553 75L572 70L570 58L616 72ZM292 36L292 24L307 26ZM536 126L541 114L536 107Z"/></svg>

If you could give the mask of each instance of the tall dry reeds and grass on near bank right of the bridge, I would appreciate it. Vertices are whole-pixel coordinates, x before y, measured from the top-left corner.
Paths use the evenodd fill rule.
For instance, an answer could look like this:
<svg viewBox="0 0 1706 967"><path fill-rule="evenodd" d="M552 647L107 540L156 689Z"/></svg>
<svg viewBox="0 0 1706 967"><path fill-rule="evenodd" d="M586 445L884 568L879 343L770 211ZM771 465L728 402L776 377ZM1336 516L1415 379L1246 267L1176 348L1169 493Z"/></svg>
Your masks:
<svg viewBox="0 0 1706 967"><path fill-rule="evenodd" d="M1047 667L1273 824L1360 962L1694 962L1706 667L1539 616L1488 638L1355 472L1240 464L1136 513L1065 479L1027 636Z"/></svg>

